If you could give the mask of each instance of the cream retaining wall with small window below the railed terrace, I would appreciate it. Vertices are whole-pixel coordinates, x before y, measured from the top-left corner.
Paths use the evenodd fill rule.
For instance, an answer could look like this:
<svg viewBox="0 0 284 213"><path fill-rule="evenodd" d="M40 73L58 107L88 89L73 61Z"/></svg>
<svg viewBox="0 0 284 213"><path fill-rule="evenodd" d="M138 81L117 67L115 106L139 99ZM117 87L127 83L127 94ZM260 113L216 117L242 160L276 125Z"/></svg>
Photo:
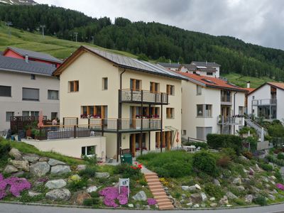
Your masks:
<svg viewBox="0 0 284 213"><path fill-rule="evenodd" d="M73 158L81 158L82 147L96 146L98 158L106 157L106 138L102 136L88 138L65 138L44 141L22 139L23 143L28 143L40 151L54 151L62 155ZM21 142L19 142L21 143Z"/></svg>

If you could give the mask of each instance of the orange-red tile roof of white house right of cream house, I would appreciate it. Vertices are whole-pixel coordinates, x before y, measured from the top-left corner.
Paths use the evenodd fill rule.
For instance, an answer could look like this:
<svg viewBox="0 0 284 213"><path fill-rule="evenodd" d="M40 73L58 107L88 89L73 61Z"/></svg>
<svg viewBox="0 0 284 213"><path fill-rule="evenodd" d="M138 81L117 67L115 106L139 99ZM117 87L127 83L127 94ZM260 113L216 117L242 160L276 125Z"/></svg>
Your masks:
<svg viewBox="0 0 284 213"><path fill-rule="evenodd" d="M181 75L186 76L189 80L195 80L197 82L200 82L202 84L205 84L207 87L215 87L215 88L220 88L220 89L231 89L231 90L237 90L241 92L247 92L246 89L238 87L234 84L230 84L226 82L225 80L222 80L217 77L207 77L204 75L196 75L196 74L191 74L187 72L178 72Z"/></svg>

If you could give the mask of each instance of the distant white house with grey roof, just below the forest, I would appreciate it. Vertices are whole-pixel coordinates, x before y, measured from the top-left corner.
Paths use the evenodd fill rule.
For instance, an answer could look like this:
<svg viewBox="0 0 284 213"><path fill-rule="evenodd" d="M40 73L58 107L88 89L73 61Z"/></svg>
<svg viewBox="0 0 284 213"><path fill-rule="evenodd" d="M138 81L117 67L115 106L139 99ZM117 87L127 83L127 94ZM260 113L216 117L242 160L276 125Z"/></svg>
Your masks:
<svg viewBox="0 0 284 213"><path fill-rule="evenodd" d="M190 64L181 65L180 72L188 72L191 74L204 75L209 77L219 77L220 67L215 62L197 62L193 61Z"/></svg>

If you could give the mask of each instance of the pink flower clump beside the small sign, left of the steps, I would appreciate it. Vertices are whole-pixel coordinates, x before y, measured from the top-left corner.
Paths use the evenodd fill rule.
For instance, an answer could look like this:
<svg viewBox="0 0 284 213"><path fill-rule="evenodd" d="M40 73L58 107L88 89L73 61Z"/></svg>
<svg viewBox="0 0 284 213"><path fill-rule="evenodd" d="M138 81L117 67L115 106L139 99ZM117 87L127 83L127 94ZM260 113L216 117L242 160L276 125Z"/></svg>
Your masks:
<svg viewBox="0 0 284 213"><path fill-rule="evenodd" d="M127 187L121 187L120 194L117 187L105 187L99 192L99 195L104 196L104 204L107 207L116 208L119 204L124 205L129 202L127 192Z"/></svg>

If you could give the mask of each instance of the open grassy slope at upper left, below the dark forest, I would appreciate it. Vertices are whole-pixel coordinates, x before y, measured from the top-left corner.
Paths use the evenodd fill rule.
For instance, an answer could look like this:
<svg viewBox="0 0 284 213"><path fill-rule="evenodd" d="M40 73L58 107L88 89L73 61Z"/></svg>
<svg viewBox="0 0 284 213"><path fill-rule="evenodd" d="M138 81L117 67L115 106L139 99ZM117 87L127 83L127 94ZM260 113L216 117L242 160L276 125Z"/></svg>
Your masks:
<svg viewBox="0 0 284 213"><path fill-rule="evenodd" d="M62 40L53 36L43 36L39 33L29 33L28 31L21 31L16 28L10 28L11 38L9 38L8 28L3 22L0 22L0 50L5 50L7 46L13 46L17 48L23 48L27 50L34 50L43 53L49 53L56 58L65 59L70 56L80 45L89 45L96 48L100 48L97 45L90 43L75 43L70 40ZM112 53L118 53L129 57L137 58L136 55L131 53L122 52L119 50L108 50Z"/></svg>

